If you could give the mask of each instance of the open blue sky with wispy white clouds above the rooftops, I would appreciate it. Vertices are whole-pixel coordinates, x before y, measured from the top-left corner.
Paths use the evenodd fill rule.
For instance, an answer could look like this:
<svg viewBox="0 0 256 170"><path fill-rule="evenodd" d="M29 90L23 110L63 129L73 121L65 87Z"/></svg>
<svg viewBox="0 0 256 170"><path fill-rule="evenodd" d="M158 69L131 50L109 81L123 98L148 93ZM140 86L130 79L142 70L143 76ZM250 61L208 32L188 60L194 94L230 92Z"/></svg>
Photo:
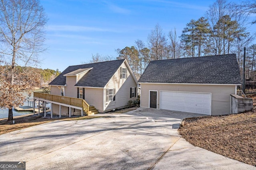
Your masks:
<svg viewBox="0 0 256 170"><path fill-rule="evenodd" d="M158 23L165 35L180 35L191 19L205 15L213 0L41 0L48 15L41 68L63 71L92 54L117 57L115 49L135 45Z"/></svg>

